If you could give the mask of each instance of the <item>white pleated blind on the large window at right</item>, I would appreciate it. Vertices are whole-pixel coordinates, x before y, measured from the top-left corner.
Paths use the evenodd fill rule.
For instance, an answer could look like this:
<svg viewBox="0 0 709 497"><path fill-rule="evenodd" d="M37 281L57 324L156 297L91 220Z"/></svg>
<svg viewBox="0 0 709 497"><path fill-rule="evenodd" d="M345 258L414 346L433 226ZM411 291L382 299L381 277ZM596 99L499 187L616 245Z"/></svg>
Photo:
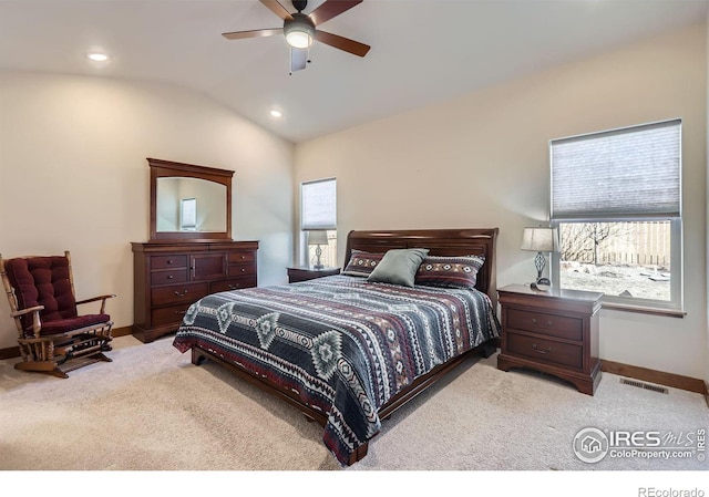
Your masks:
<svg viewBox="0 0 709 497"><path fill-rule="evenodd" d="M679 217L681 120L549 142L552 218Z"/></svg>

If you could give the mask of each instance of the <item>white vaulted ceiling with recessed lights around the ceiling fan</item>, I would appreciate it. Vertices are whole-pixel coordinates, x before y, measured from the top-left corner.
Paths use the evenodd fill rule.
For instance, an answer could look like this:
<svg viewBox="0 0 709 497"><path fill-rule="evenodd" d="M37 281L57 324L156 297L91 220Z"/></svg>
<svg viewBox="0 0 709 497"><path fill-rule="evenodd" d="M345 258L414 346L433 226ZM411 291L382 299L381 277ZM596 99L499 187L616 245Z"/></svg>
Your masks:
<svg viewBox="0 0 709 497"><path fill-rule="evenodd" d="M258 0L0 0L0 69L177 84L298 143L706 21L708 1L363 0L319 28L367 56L316 42L289 75L282 37L220 34L280 28Z"/></svg>

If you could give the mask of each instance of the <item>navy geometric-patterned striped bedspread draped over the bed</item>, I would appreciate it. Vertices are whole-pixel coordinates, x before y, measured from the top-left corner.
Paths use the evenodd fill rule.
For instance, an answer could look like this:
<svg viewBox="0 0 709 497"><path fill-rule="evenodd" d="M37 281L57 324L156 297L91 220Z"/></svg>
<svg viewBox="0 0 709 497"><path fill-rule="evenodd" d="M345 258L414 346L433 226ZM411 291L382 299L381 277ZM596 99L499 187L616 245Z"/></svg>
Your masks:
<svg viewBox="0 0 709 497"><path fill-rule="evenodd" d="M486 294L332 276L207 296L174 345L267 377L327 415L341 464L379 432L378 410L418 376L500 335Z"/></svg>

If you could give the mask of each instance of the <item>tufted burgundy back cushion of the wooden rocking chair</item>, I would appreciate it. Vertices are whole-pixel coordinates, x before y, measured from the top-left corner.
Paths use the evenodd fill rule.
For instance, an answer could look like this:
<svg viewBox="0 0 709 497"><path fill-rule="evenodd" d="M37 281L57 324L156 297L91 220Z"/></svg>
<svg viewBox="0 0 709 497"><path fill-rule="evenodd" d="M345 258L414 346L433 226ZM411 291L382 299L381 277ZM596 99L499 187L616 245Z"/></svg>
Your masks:
<svg viewBox="0 0 709 497"><path fill-rule="evenodd" d="M7 260L4 267L20 310L44 306L40 313L43 329L52 321L76 318L76 300L71 289L66 257L17 258ZM23 317L22 328L32 330L31 314Z"/></svg>

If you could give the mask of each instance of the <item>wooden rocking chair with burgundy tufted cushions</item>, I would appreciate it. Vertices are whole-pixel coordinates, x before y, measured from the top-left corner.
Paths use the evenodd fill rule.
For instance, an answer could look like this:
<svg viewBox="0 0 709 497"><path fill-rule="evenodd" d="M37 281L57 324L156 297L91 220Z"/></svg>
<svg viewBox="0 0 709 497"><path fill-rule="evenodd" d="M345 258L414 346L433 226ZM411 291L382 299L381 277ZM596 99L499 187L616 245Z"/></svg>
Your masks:
<svg viewBox="0 0 709 497"><path fill-rule="evenodd" d="M69 250L64 256L2 259L0 278L18 328L22 361L18 370L69 377L69 371L111 362L113 322L105 313L114 294L76 301ZM76 306L101 301L97 314L79 315Z"/></svg>

